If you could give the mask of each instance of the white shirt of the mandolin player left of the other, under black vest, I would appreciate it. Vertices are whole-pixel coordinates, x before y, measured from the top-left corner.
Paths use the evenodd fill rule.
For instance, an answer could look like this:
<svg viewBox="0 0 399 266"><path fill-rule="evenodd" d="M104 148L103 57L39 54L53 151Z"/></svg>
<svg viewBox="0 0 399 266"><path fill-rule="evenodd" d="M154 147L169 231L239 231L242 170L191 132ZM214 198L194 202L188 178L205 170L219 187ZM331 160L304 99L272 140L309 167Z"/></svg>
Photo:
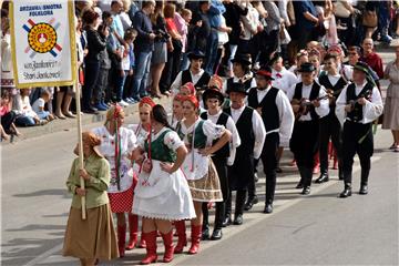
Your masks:
<svg viewBox="0 0 399 266"><path fill-rule="evenodd" d="M314 83L311 83L310 85L303 84L301 98L309 99L313 84ZM295 86L296 86L296 84L287 93L289 102L294 98ZM327 94L326 89L323 85L320 85L320 91L319 91L318 98L323 98L326 94ZM329 113L329 101L328 101L328 99L320 100L320 106L315 108L315 111L316 111L317 115L320 119L326 116ZM299 121L310 121L310 120L311 120L310 112L308 112L305 115L300 115L300 117L299 117Z"/></svg>

